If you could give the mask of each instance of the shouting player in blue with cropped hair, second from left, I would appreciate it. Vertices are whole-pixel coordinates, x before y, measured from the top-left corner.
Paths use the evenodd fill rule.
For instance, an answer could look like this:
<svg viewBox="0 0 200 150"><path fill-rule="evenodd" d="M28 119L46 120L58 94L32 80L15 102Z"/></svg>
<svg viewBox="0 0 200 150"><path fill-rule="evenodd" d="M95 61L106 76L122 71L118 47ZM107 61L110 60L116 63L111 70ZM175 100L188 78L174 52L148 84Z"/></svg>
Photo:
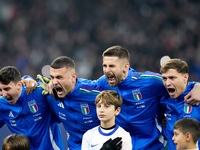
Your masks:
<svg viewBox="0 0 200 150"><path fill-rule="evenodd" d="M91 81L77 78L74 60L66 56L53 60L50 77L61 100L49 101L51 111L69 133L69 149L81 150L83 134L100 124L94 102L101 90Z"/></svg>

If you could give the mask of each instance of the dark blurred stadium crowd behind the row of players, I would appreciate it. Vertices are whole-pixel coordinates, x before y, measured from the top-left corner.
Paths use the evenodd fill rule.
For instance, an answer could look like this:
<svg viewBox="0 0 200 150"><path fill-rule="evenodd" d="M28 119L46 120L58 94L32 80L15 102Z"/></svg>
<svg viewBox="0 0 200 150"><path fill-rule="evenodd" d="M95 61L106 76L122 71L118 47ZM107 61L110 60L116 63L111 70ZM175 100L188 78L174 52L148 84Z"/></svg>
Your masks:
<svg viewBox="0 0 200 150"><path fill-rule="evenodd" d="M102 52L121 45L138 72L159 72L168 55L188 62L190 80L200 81L199 8L199 0L0 0L0 68L35 78L67 55L78 77L98 79Z"/></svg>

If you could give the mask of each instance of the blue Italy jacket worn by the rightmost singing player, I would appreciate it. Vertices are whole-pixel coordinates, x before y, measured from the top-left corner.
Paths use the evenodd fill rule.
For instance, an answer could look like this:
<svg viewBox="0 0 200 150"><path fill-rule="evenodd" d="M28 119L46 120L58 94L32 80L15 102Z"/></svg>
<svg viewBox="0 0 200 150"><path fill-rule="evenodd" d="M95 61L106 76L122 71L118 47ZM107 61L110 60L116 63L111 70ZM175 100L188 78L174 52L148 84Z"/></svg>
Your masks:
<svg viewBox="0 0 200 150"><path fill-rule="evenodd" d="M184 102L185 95L192 90L195 84L195 82L189 82L186 90L176 99L172 99L168 95L164 96L160 100L167 115L166 137L168 141L167 147L169 150L176 150L172 137L174 135L174 124L177 120L182 118L194 118L200 122L200 106L191 106Z"/></svg>

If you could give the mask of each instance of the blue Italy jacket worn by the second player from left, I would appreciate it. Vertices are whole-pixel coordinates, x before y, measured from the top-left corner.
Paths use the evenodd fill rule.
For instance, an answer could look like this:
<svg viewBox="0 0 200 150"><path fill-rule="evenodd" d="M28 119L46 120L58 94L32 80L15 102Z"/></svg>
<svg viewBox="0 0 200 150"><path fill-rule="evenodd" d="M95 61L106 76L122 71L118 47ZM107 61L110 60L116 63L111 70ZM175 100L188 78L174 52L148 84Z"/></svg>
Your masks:
<svg viewBox="0 0 200 150"><path fill-rule="evenodd" d="M100 124L95 99L101 92L92 81L78 78L74 90L61 101L49 101L52 112L69 133L70 150L81 150L83 134Z"/></svg>

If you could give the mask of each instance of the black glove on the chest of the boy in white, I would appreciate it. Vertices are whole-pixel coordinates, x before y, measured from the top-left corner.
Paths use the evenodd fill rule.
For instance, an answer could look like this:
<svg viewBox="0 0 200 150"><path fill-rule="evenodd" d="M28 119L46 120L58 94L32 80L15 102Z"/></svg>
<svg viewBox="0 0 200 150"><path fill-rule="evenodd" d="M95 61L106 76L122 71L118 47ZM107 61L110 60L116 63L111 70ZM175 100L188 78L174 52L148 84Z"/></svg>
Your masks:
<svg viewBox="0 0 200 150"><path fill-rule="evenodd" d="M122 148L122 138L109 139L106 141L100 150L120 150Z"/></svg>

